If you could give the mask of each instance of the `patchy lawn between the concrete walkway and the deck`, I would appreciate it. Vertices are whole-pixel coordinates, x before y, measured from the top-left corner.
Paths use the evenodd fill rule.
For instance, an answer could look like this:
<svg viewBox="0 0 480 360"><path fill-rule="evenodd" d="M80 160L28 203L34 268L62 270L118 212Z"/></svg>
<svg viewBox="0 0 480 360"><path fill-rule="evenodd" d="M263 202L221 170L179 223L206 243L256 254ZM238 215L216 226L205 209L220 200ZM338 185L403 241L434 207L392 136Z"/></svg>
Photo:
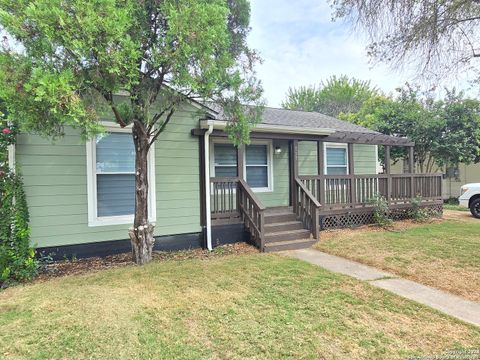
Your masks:
<svg viewBox="0 0 480 360"><path fill-rule="evenodd" d="M446 211L445 220L323 234L319 250L480 301L480 221Z"/></svg>

